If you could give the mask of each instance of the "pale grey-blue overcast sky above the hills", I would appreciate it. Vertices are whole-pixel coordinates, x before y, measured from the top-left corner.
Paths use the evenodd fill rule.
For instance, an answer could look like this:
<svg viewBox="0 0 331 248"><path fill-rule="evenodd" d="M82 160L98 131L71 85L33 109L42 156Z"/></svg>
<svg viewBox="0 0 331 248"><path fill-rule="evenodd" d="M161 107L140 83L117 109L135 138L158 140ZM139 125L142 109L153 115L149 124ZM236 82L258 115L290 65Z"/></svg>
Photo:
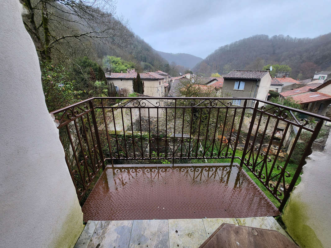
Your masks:
<svg viewBox="0 0 331 248"><path fill-rule="evenodd" d="M116 12L154 49L202 58L254 34L301 38L331 32L330 0L118 0Z"/></svg>

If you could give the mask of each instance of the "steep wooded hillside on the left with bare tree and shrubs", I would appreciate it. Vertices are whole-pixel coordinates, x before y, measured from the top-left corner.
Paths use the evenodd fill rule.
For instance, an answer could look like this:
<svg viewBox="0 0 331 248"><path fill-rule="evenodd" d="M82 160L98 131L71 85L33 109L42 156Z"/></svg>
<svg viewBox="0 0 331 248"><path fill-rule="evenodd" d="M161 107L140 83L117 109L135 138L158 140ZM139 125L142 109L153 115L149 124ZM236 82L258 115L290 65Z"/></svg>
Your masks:
<svg viewBox="0 0 331 248"><path fill-rule="evenodd" d="M116 96L105 78L106 67L170 71L166 60L135 35L125 19L114 16L115 0L22 2L49 111L92 96Z"/></svg>

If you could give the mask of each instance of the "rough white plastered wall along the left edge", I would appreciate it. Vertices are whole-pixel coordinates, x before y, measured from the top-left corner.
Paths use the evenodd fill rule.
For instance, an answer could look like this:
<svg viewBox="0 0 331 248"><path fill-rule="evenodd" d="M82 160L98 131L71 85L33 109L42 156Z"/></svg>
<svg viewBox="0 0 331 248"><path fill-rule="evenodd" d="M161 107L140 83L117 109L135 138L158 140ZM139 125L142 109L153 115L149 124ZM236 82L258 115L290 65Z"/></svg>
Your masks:
<svg viewBox="0 0 331 248"><path fill-rule="evenodd" d="M0 246L73 247L83 214L21 9L18 0L2 1Z"/></svg>

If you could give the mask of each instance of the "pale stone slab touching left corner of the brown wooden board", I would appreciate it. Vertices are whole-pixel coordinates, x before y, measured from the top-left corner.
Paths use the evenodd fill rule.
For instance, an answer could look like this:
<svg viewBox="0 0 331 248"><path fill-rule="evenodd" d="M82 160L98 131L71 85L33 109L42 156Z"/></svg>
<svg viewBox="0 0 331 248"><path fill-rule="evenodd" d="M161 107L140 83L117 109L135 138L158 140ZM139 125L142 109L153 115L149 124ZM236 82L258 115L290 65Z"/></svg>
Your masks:
<svg viewBox="0 0 331 248"><path fill-rule="evenodd" d="M169 246L199 247L207 238L202 219L169 220Z"/></svg>

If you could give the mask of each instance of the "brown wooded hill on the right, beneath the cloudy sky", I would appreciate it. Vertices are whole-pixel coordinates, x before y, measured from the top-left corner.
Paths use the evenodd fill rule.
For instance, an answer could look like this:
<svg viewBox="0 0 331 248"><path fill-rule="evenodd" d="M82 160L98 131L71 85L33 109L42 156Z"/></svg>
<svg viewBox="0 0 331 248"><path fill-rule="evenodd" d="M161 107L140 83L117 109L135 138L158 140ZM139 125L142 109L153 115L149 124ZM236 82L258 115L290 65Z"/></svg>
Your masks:
<svg viewBox="0 0 331 248"><path fill-rule="evenodd" d="M233 69L262 69L267 64L289 65L290 76L300 79L331 69L331 33L316 38L254 35L218 48L192 70L224 74Z"/></svg>

